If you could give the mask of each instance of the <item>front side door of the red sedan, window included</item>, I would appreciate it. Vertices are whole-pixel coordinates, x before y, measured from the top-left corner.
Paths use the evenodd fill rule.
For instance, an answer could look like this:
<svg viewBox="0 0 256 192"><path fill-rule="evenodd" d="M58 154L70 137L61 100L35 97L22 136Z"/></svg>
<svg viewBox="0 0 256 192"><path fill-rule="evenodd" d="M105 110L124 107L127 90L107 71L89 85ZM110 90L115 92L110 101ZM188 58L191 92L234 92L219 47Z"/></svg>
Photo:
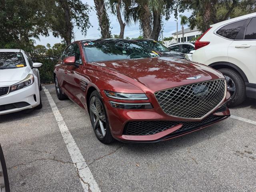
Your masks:
<svg viewBox="0 0 256 192"><path fill-rule="evenodd" d="M64 72L66 80L65 89L69 92L70 98L83 107L81 103L82 90L80 87L80 73L83 65L78 44L73 45L70 56L75 57L75 65L66 65Z"/></svg>

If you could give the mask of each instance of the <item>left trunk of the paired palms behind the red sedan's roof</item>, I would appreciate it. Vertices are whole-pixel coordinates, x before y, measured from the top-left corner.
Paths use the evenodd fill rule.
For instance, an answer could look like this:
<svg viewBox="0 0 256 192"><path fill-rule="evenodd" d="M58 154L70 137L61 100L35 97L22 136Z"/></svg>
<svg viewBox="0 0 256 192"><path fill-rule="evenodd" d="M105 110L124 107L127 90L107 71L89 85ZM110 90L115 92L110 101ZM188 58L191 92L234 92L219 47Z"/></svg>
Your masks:
<svg viewBox="0 0 256 192"><path fill-rule="evenodd" d="M152 28L150 18L150 10L146 3L144 4L144 11L140 14L140 25L143 31L143 38L151 38Z"/></svg>

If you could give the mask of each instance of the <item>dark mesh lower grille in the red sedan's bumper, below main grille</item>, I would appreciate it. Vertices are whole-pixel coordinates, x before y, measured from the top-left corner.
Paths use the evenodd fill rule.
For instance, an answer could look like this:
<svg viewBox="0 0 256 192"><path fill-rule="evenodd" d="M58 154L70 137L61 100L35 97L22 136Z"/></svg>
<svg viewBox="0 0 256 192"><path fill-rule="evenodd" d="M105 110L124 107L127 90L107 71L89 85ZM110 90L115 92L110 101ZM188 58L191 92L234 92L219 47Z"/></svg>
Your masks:
<svg viewBox="0 0 256 192"><path fill-rule="evenodd" d="M194 130L222 119L223 116L210 115L202 121L131 121L126 124L124 135L152 135L167 130L178 124L182 127L172 134L181 134L188 130Z"/></svg>

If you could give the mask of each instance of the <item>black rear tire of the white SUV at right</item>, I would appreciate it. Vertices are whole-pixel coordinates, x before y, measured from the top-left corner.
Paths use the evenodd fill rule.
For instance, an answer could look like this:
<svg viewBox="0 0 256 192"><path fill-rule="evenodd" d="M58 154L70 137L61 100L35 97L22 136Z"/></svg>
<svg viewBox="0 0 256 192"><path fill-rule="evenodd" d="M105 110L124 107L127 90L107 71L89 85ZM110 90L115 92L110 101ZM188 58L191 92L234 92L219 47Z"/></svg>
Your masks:
<svg viewBox="0 0 256 192"><path fill-rule="evenodd" d="M232 91L230 91L231 96L227 102L227 106L234 107L244 102L246 99L246 86L240 74L228 68L218 69L218 71L220 71L226 79L227 77L231 79L231 83L227 81L227 86L232 86L232 84L235 86L235 90L231 87L228 88L228 90Z"/></svg>

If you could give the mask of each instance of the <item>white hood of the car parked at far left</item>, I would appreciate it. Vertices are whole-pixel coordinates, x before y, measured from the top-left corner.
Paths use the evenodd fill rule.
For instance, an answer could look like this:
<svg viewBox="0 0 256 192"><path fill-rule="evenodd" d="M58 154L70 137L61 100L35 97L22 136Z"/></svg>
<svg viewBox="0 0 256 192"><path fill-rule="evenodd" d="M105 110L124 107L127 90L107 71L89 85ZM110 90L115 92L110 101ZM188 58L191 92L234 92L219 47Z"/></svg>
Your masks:
<svg viewBox="0 0 256 192"><path fill-rule="evenodd" d="M0 82L14 82L21 81L30 72L30 68L21 67L14 69L0 69Z"/></svg>

